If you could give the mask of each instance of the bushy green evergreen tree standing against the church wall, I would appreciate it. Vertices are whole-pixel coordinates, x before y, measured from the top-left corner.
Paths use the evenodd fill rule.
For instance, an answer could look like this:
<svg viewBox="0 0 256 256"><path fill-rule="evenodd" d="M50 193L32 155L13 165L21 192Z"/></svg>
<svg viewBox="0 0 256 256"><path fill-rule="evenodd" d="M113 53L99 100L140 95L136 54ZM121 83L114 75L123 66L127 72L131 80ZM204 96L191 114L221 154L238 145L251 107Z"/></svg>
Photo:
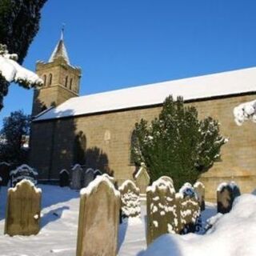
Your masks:
<svg viewBox="0 0 256 256"><path fill-rule="evenodd" d="M152 182L162 175L173 178L179 189L185 182L194 182L220 159L221 146L226 142L219 134L213 118L198 120L194 106L184 106L169 96L158 118L142 119L135 124L131 153L136 164L144 162Z"/></svg>

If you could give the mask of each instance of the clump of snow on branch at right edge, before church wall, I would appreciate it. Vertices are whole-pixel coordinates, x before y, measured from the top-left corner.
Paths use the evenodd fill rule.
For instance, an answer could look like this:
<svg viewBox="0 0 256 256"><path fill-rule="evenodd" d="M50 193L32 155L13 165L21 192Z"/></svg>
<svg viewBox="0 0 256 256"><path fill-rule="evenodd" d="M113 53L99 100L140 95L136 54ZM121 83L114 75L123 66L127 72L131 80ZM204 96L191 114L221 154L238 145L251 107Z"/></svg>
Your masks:
<svg viewBox="0 0 256 256"><path fill-rule="evenodd" d="M256 100L252 102L244 102L236 106L233 113L234 121L238 126L242 126L242 123L247 120L256 122Z"/></svg>

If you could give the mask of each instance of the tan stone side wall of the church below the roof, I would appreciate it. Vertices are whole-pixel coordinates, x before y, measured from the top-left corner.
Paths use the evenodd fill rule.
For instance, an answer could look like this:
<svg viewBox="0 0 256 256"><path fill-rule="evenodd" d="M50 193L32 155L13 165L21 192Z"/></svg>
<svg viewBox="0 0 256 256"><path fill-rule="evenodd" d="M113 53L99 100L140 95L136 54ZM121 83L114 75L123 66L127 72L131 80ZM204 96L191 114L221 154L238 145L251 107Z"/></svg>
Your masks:
<svg viewBox="0 0 256 256"><path fill-rule="evenodd" d="M242 192L251 192L256 186L256 124L246 122L243 126L237 126L233 118L234 106L254 98L255 95L247 95L186 103L197 107L199 118L210 115L218 119L222 134L230 139L225 146L222 146L222 162L215 163L206 174L202 175L208 200L215 198L215 190L219 182L233 179L241 186ZM55 127L52 178L58 178L59 170L73 164L74 134L78 134L79 131L86 136L88 155L91 157L92 154L101 154L98 158L104 158L106 170L113 170L118 182L132 178L134 166L130 165L130 137L134 123L139 122L141 118L152 120L158 116L161 109L162 107L153 107L59 120ZM53 126L52 123L38 122L34 125L34 142L32 142L34 158L42 158L44 146L46 149L49 147L44 140L46 137L50 138L48 134L50 130L46 130L46 126ZM43 133L45 134L42 138L38 137ZM31 165L38 167L39 171L42 169L40 177L46 178L48 158L48 154L45 154L42 159L33 159L31 162ZM95 161L97 162L97 159Z"/></svg>

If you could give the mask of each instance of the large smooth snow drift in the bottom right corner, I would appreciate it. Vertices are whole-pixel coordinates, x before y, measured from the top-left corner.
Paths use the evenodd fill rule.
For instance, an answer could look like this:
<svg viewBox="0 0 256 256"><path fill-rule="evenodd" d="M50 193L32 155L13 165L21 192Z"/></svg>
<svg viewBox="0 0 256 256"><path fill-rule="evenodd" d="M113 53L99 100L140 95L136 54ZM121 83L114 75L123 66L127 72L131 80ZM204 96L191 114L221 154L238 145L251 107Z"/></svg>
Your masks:
<svg viewBox="0 0 256 256"><path fill-rule="evenodd" d="M243 194L229 214L218 218L205 235L164 234L143 256L253 256L256 255L256 196Z"/></svg>

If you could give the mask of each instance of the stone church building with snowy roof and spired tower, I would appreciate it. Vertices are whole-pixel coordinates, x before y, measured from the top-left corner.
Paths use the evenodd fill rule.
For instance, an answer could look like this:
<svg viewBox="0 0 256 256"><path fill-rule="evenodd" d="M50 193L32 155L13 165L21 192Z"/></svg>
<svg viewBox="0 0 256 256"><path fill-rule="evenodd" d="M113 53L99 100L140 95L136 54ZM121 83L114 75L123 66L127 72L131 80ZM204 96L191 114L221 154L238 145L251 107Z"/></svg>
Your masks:
<svg viewBox="0 0 256 256"><path fill-rule="evenodd" d="M256 125L234 122L234 106L256 98L256 68L159 82L100 94L79 96L82 70L70 64L63 38L48 62L38 62L44 85L34 90L30 165L39 179L54 181L59 171L75 163L114 174L118 182L133 178L130 146L135 122L158 117L162 102L172 94L195 106L199 118L221 124L229 142L222 160L201 180L206 198L213 199L219 182L234 180L242 192L256 187Z"/></svg>

